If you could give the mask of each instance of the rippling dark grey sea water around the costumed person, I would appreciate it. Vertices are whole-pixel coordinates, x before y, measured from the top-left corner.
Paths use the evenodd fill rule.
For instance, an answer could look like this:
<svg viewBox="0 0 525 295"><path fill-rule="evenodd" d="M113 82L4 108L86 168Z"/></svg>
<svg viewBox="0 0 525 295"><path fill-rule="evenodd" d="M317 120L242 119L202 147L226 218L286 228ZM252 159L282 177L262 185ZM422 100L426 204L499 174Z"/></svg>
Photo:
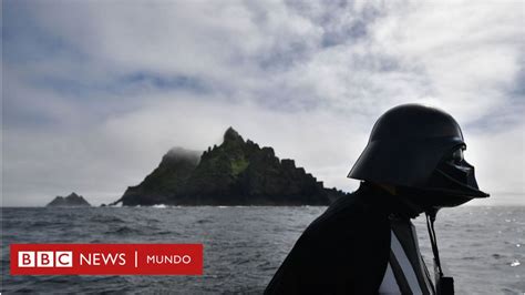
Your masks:
<svg viewBox="0 0 525 295"><path fill-rule="evenodd" d="M326 207L2 208L2 293L261 293ZM424 220L415 221L430 264ZM463 206L436 221L457 294L525 294L525 207ZM11 276L11 243L203 243L203 276Z"/></svg>

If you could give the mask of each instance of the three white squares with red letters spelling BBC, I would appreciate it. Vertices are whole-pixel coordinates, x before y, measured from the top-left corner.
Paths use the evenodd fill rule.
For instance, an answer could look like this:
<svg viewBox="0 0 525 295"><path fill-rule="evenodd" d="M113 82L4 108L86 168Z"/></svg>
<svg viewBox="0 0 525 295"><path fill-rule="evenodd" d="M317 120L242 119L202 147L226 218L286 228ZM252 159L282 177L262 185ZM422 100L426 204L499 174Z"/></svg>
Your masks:
<svg viewBox="0 0 525 295"><path fill-rule="evenodd" d="M20 251L18 267L73 267L73 252Z"/></svg>

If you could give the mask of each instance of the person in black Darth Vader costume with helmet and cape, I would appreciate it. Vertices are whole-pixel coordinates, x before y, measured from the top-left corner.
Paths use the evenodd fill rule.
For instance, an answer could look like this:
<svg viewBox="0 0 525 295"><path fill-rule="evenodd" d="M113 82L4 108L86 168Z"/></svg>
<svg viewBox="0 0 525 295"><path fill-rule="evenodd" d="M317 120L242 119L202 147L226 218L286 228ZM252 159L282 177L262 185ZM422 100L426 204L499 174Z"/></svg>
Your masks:
<svg viewBox="0 0 525 295"><path fill-rule="evenodd" d="M265 294L450 294L433 222L441 207L488 194L456 121L429 106L404 104L384 113L349 177L360 187L332 203L296 242ZM434 252L432 279L411 218L421 213Z"/></svg>

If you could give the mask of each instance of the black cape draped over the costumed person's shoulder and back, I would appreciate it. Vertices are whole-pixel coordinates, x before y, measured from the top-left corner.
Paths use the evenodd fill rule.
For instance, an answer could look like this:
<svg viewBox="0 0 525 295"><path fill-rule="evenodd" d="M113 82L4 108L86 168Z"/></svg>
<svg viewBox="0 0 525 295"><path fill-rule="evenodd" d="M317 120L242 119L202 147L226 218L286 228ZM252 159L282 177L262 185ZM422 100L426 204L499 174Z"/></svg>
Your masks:
<svg viewBox="0 0 525 295"><path fill-rule="evenodd" d="M361 183L315 220L265 294L377 294L390 255L394 200Z"/></svg>

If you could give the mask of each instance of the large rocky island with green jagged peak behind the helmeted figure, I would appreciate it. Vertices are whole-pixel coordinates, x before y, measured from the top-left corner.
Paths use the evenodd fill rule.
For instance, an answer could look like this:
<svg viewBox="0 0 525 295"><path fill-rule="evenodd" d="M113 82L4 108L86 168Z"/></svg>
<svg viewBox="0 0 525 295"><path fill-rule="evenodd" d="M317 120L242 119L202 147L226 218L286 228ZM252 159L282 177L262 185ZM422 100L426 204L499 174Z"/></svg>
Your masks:
<svg viewBox="0 0 525 295"><path fill-rule="evenodd" d="M229 128L219 146L169 150L144 181L112 205L328 205L346 195L323 187L294 160L245 141Z"/></svg>

